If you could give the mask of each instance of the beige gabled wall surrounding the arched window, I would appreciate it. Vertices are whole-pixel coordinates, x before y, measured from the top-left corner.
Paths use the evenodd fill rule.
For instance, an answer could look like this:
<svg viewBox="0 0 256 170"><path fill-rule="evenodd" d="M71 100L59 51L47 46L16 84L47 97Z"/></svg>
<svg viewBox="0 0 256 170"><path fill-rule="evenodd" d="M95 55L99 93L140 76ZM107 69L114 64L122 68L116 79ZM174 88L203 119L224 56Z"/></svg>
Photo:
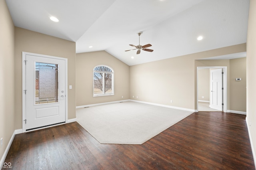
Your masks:
<svg viewBox="0 0 256 170"><path fill-rule="evenodd" d="M92 97L93 69L108 65L114 69L114 95ZM123 98L122 98L123 96ZM106 51L76 54L76 106L129 99L129 66Z"/></svg>

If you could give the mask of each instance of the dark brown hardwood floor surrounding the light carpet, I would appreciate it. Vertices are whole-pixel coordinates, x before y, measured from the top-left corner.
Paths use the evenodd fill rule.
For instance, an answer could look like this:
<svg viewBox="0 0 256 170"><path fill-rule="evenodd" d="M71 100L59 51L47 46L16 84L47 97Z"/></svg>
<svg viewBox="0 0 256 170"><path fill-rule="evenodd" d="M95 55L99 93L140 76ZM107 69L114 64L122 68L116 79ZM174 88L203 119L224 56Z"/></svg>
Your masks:
<svg viewBox="0 0 256 170"><path fill-rule="evenodd" d="M253 170L245 117L193 113L142 145L100 144L74 122L17 134L5 162L18 170Z"/></svg>

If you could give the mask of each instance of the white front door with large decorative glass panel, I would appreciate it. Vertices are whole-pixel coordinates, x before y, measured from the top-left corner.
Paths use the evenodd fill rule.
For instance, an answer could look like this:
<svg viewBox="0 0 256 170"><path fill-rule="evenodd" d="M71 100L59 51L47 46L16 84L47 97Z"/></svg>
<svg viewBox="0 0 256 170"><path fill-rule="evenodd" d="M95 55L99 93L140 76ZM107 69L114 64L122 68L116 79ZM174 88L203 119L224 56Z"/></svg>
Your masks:
<svg viewBox="0 0 256 170"><path fill-rule="evenodd" d="M23 59L26 130L66 122L66 59L27 53Z"/></svg>

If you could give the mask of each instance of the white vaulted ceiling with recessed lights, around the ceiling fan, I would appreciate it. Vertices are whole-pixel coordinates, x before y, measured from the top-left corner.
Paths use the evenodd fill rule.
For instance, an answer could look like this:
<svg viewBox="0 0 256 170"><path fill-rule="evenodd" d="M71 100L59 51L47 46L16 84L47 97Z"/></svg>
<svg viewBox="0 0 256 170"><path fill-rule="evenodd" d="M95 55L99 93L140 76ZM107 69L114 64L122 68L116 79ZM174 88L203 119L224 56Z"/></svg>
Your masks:
<svg viewBox="0 0 256 170"><path fill-rule="evenodd" d="M6 0L14 25L128 65L246 43L249 0ZM59 22L52 22L55 16ZM152 44L153 52L129 44ZM198 41L198 36L203 40ZM89 48L89 46L93 46ZM134 56L134 59L131 57ZM236 57L239 55L236 55ZM228 56L230 57L230 56ZM231 56L232 57L232 56ZM233 56L234 57L234 56ZM227 56L218 57L218 59Z"/></svg>

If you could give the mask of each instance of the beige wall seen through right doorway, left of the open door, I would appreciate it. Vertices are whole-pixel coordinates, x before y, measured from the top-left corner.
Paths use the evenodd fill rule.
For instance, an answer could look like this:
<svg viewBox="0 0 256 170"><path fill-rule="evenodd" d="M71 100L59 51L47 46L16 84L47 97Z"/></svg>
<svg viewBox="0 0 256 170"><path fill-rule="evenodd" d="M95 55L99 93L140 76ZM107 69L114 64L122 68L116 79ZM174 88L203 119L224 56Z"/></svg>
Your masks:
<svg viewBox="0 0 256 170"><path fill-rule="evenodd" d="M210 69L198 69L198 100L210 101Z"/></svg>

